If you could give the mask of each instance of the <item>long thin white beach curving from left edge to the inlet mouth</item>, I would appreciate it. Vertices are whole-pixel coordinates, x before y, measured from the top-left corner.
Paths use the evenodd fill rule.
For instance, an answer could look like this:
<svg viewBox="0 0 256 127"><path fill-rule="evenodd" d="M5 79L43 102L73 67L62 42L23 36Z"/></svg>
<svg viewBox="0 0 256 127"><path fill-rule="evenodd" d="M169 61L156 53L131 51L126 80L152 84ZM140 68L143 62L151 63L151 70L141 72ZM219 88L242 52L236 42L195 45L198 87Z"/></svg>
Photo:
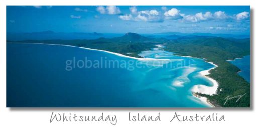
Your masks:
<svg viewBox="0 0 256 127"><path fill-rule="evenodd" d="M15 43L15 42L10 42L10 43ZM15 44L42 44L42 45L57 45L57 46L77 47L77 48L81 48L81 49L106 52L106 53L114 54L114 55L117 55L117 56L120 56L120 57L132 58L132 59L141 60L141 61L149 61L149 60L163 60L163 61L167 61L167 60L169 60L169 59L156 59L156 58L137 58L137 57L126 56L126 55L123 55L123 54L120 54L120 53L115 53L115 52L106 51L106 50L92 49L92 48L72 46L72 45L64 45L64 44L49 44L49 43L15 43Z"/></svg>

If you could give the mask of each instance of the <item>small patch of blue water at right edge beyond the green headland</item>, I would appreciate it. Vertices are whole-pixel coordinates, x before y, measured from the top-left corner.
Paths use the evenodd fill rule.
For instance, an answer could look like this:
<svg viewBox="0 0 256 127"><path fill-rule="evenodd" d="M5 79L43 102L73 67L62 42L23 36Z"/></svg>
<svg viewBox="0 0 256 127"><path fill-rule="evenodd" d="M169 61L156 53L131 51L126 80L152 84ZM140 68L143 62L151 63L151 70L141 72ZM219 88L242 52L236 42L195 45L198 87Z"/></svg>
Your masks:
<svg viewBox="0 0 256 127"><path fill-rule="evenodd" d="M246 81L250 82L250 55L229 62L241 69L241 72L238 74L242 76Z"/></svg>

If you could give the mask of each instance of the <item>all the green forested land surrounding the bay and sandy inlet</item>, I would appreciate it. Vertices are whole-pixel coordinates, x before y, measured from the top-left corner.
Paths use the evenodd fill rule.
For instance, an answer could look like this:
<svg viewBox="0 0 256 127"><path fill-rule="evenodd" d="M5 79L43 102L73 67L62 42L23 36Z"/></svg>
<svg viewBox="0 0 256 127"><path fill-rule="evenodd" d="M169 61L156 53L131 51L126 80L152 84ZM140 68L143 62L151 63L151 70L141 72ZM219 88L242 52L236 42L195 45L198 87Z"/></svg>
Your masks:
<svg viewBox="0 0 256 127"><path fill-rule="evenodd" d="M12 42L12 41L7 41ZM239 68L227 62L234 58L250 54L249 39L226 39L220 37L184 36L173 41L163 38L144 37L135 33L127 33L122 37L99 38L95 40L26 40L15 41L22 43L47 43L65 44L93 49L117 52L128 56L140 57L141 51L150 50L156 44L165 44L165 50L176 52L178 55L186 55L198 58L205 58L206 61L218 65L210 71L209 77L219 83L217 94L205 96L209 101L221 107L250 107L250 84L237 74ZM246 94L245 94L246 93ZM227 96L234 97L243 95L239 101L234 98L225 103Z"/></svg>

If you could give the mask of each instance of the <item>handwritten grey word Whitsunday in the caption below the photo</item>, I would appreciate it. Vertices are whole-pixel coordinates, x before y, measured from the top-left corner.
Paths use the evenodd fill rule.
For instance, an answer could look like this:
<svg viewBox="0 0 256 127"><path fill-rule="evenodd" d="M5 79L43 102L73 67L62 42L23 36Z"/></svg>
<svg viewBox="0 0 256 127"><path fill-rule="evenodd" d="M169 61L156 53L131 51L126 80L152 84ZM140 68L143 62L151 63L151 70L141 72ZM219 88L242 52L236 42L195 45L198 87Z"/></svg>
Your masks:
<svg viewBox="0 0 256 127"><path fill-rule="evenodd" d="M116 115L110 116L105 115L103 112L101 115L94 115L94 116L84 116L84 115L77 115L76 113L72 114L65 114L65 113L55 113L52 112L50 123L53 121L56 122L110 122L112 125L116 125L117 117Z"/></svg>

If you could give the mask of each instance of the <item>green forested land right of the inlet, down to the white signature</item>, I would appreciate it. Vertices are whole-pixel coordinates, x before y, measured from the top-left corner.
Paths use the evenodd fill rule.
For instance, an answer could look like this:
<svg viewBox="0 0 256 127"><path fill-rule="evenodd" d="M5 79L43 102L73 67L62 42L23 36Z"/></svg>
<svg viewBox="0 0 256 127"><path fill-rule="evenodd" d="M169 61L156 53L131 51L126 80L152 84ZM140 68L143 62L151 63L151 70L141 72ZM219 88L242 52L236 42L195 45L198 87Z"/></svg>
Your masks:
<svg viewBox="0 0 256 127"><path fill-rule="evenodd" d="M233 60L250 54L249 39L225 39L219 37L189 37L167 43L166 50L178 55L205 58L206 61L218 65L210 71L209 77L219 83L217 94L207 97L210 102L221 107L250 107L250 84L237 74L239 68L226 60ZM243 95L226 101L226 97Z"/></svg>

